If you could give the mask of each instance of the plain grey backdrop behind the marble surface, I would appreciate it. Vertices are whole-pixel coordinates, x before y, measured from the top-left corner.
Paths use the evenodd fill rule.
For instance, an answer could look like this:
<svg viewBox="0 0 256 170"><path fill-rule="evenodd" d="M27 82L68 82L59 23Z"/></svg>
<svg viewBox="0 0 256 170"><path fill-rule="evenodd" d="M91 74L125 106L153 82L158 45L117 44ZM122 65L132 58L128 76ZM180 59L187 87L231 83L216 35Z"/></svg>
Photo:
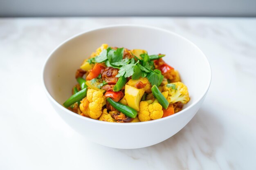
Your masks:
<svg viewBox="0 0 256 170"><path fill-rule="evenodd" d="M256 0L0 0L0 16L256 16Z"/></svg>

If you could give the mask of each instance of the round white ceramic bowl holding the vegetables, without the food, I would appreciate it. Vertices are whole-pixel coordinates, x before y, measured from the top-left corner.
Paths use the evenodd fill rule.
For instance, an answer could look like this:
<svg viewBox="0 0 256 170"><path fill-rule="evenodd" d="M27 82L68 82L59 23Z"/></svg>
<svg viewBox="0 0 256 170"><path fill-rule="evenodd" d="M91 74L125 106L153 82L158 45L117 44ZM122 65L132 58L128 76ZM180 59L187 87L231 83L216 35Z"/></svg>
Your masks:
<svg viewBox="0 0 256 170"><path fill-rule="evenodd" d="M190 102L179 113L138 123L98 121L64 108L62 104L76 84L76 69L103 43L166 54L164 60L180 72L188 86ZM59 45L45 63L43 82L56 112L85 138L113 148L143 148L168 139L192 119L210 86L211 68L202 51L180 35L149 26L117 25L81 33Z"/></svg>

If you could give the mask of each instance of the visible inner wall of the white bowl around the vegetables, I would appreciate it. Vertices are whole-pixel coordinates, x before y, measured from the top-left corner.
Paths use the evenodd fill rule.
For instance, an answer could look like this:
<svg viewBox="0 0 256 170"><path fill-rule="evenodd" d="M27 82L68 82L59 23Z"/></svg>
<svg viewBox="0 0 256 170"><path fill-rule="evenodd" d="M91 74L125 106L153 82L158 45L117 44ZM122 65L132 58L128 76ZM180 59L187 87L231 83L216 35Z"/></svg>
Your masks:
<svg viewBox="0 0 256 170"><path fill-rule="evenodd" d="M209 87L211 69L194 44L175 33L144 26L113 26L76 36L59 46L45 64L43 81L49 94L63 104L76 84L76 69L101 44L145 49L149 54L166 54L164 60L180 72L189 88L191 101L198 101Z"/></svg>

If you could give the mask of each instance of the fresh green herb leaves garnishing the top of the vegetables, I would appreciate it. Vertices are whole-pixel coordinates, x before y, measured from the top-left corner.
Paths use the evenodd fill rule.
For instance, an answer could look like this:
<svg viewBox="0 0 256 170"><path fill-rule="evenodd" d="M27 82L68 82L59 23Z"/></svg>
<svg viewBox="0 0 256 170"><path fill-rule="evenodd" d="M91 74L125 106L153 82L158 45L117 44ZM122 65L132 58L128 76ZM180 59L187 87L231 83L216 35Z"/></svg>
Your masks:
<svg viewBox="0 0 256 170"><path fill-rule="evenodd" d="M148 55L148 53L144 53L137 57L132 54L134 56L132 59L123 59L123 55L124 48L111 49L109 47L104 49L98 56L89 59L88 62L90 64L105 62L108 67L118 68L119 71L116 77L124 76L132 77L132 79L147 77L152 86L159 86L162 83L164 76L161 71L154 68L153 60L164 57L164 55Z"/></svg>

